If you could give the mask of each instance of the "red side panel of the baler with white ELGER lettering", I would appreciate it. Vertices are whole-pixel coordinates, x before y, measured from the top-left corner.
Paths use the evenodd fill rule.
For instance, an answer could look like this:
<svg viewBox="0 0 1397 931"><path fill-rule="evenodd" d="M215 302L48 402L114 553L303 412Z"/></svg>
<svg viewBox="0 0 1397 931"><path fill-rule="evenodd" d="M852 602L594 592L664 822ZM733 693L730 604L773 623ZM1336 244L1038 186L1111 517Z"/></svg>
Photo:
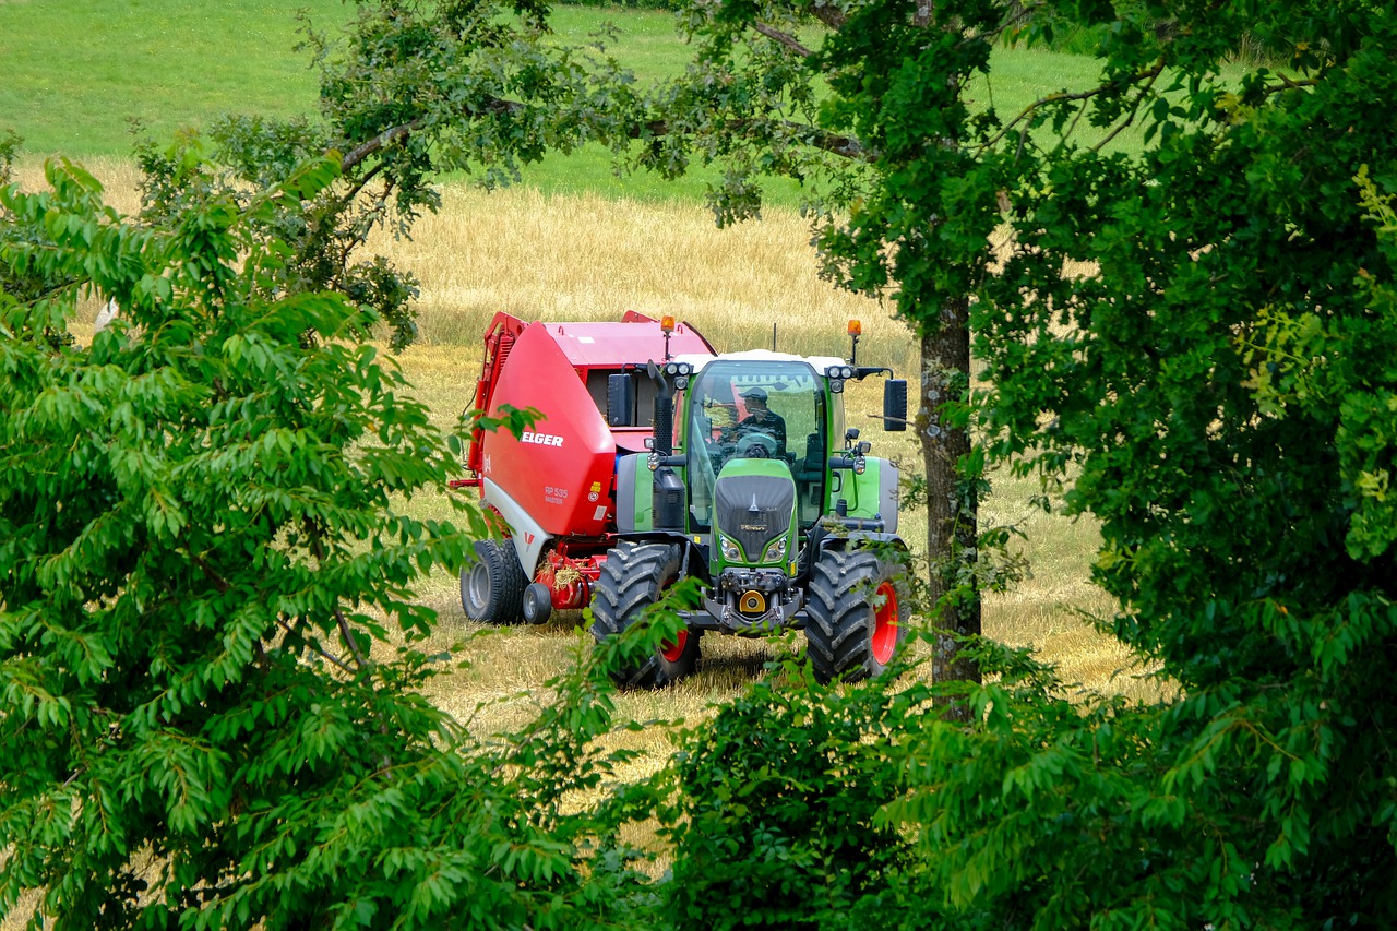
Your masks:
<svg viewBox="0 0 1397 931"><path fill-rule="evenodd" d="M608 526L616 443L556 341L556 326L531 323L520 333L490 397L492 415L511 404L543 417L520 439L486 433L481 471L546 533L597 535Z"/></svg>

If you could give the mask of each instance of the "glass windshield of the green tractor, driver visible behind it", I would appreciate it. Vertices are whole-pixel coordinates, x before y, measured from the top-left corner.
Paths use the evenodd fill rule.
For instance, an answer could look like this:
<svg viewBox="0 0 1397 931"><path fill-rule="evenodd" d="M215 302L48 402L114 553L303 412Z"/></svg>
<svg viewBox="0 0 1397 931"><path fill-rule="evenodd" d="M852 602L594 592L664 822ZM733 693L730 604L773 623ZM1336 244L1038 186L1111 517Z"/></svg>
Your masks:
<svg viewBox="0 0 1397 931"><path fill-rule="evenodd" d="M795 361L710 362L690 382L685 443L690 520L708 530L712 486L735 457L777 459L796 482L800 524L819 520L828 459L823 382Z"/></svg>

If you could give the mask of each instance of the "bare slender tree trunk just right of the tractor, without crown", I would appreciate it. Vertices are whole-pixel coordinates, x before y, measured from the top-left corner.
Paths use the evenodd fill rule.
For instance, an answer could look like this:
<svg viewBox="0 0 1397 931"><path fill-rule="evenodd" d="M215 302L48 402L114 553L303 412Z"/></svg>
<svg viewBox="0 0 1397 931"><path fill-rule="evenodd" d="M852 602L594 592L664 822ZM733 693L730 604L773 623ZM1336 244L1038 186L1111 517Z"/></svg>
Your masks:
<svg viewBox="0 0 1397 931"><path fill-rule="evenodd" d="M979 682L979 664L961 654L953 635L981 632L975 586L975 538L979 498L974 481L961 474L971 452L965 418L946 405L964 401L970 389L970 305L942 308L940 326L922 335L922 398L916 418L926 470L926 552L930 561L930 602L937 608L932 677L936 682ZM967 589L968 586L968 589ZM961 717L964 709L947 710Z"/></svg>

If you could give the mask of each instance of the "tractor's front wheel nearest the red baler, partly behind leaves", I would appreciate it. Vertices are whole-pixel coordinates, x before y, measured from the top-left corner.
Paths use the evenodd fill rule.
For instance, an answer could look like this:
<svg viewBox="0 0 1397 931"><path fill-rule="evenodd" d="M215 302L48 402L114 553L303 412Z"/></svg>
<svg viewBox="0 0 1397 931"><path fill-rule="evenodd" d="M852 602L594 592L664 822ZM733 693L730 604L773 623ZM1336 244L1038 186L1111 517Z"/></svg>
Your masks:
<svg viewBox="0 0 1397 931"><path fill-rule="evenodd" d="M645 608L679 579L679 548L669 544L623 544L606 556L592 597L592 636L601 643L640 621ZM613 670L622 688L662 688L694 671L698 633L682 630L678 643L661 644L636 668Z"/></svg>

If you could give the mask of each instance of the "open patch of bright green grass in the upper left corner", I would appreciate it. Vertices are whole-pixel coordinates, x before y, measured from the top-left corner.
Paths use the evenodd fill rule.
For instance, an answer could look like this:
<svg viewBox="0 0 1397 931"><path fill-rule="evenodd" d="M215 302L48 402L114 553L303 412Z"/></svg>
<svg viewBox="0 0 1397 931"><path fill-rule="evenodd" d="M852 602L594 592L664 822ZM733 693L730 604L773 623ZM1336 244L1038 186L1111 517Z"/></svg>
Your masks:
<svg viewBox="0 0 1397 931"><path fill-rule="evenodd" d="M129 154L131 120L168 138L221 113L312 115L298 7L324 28L352 11L339 0L0 0L0 130L34 155L88 158Z"/></svg>

